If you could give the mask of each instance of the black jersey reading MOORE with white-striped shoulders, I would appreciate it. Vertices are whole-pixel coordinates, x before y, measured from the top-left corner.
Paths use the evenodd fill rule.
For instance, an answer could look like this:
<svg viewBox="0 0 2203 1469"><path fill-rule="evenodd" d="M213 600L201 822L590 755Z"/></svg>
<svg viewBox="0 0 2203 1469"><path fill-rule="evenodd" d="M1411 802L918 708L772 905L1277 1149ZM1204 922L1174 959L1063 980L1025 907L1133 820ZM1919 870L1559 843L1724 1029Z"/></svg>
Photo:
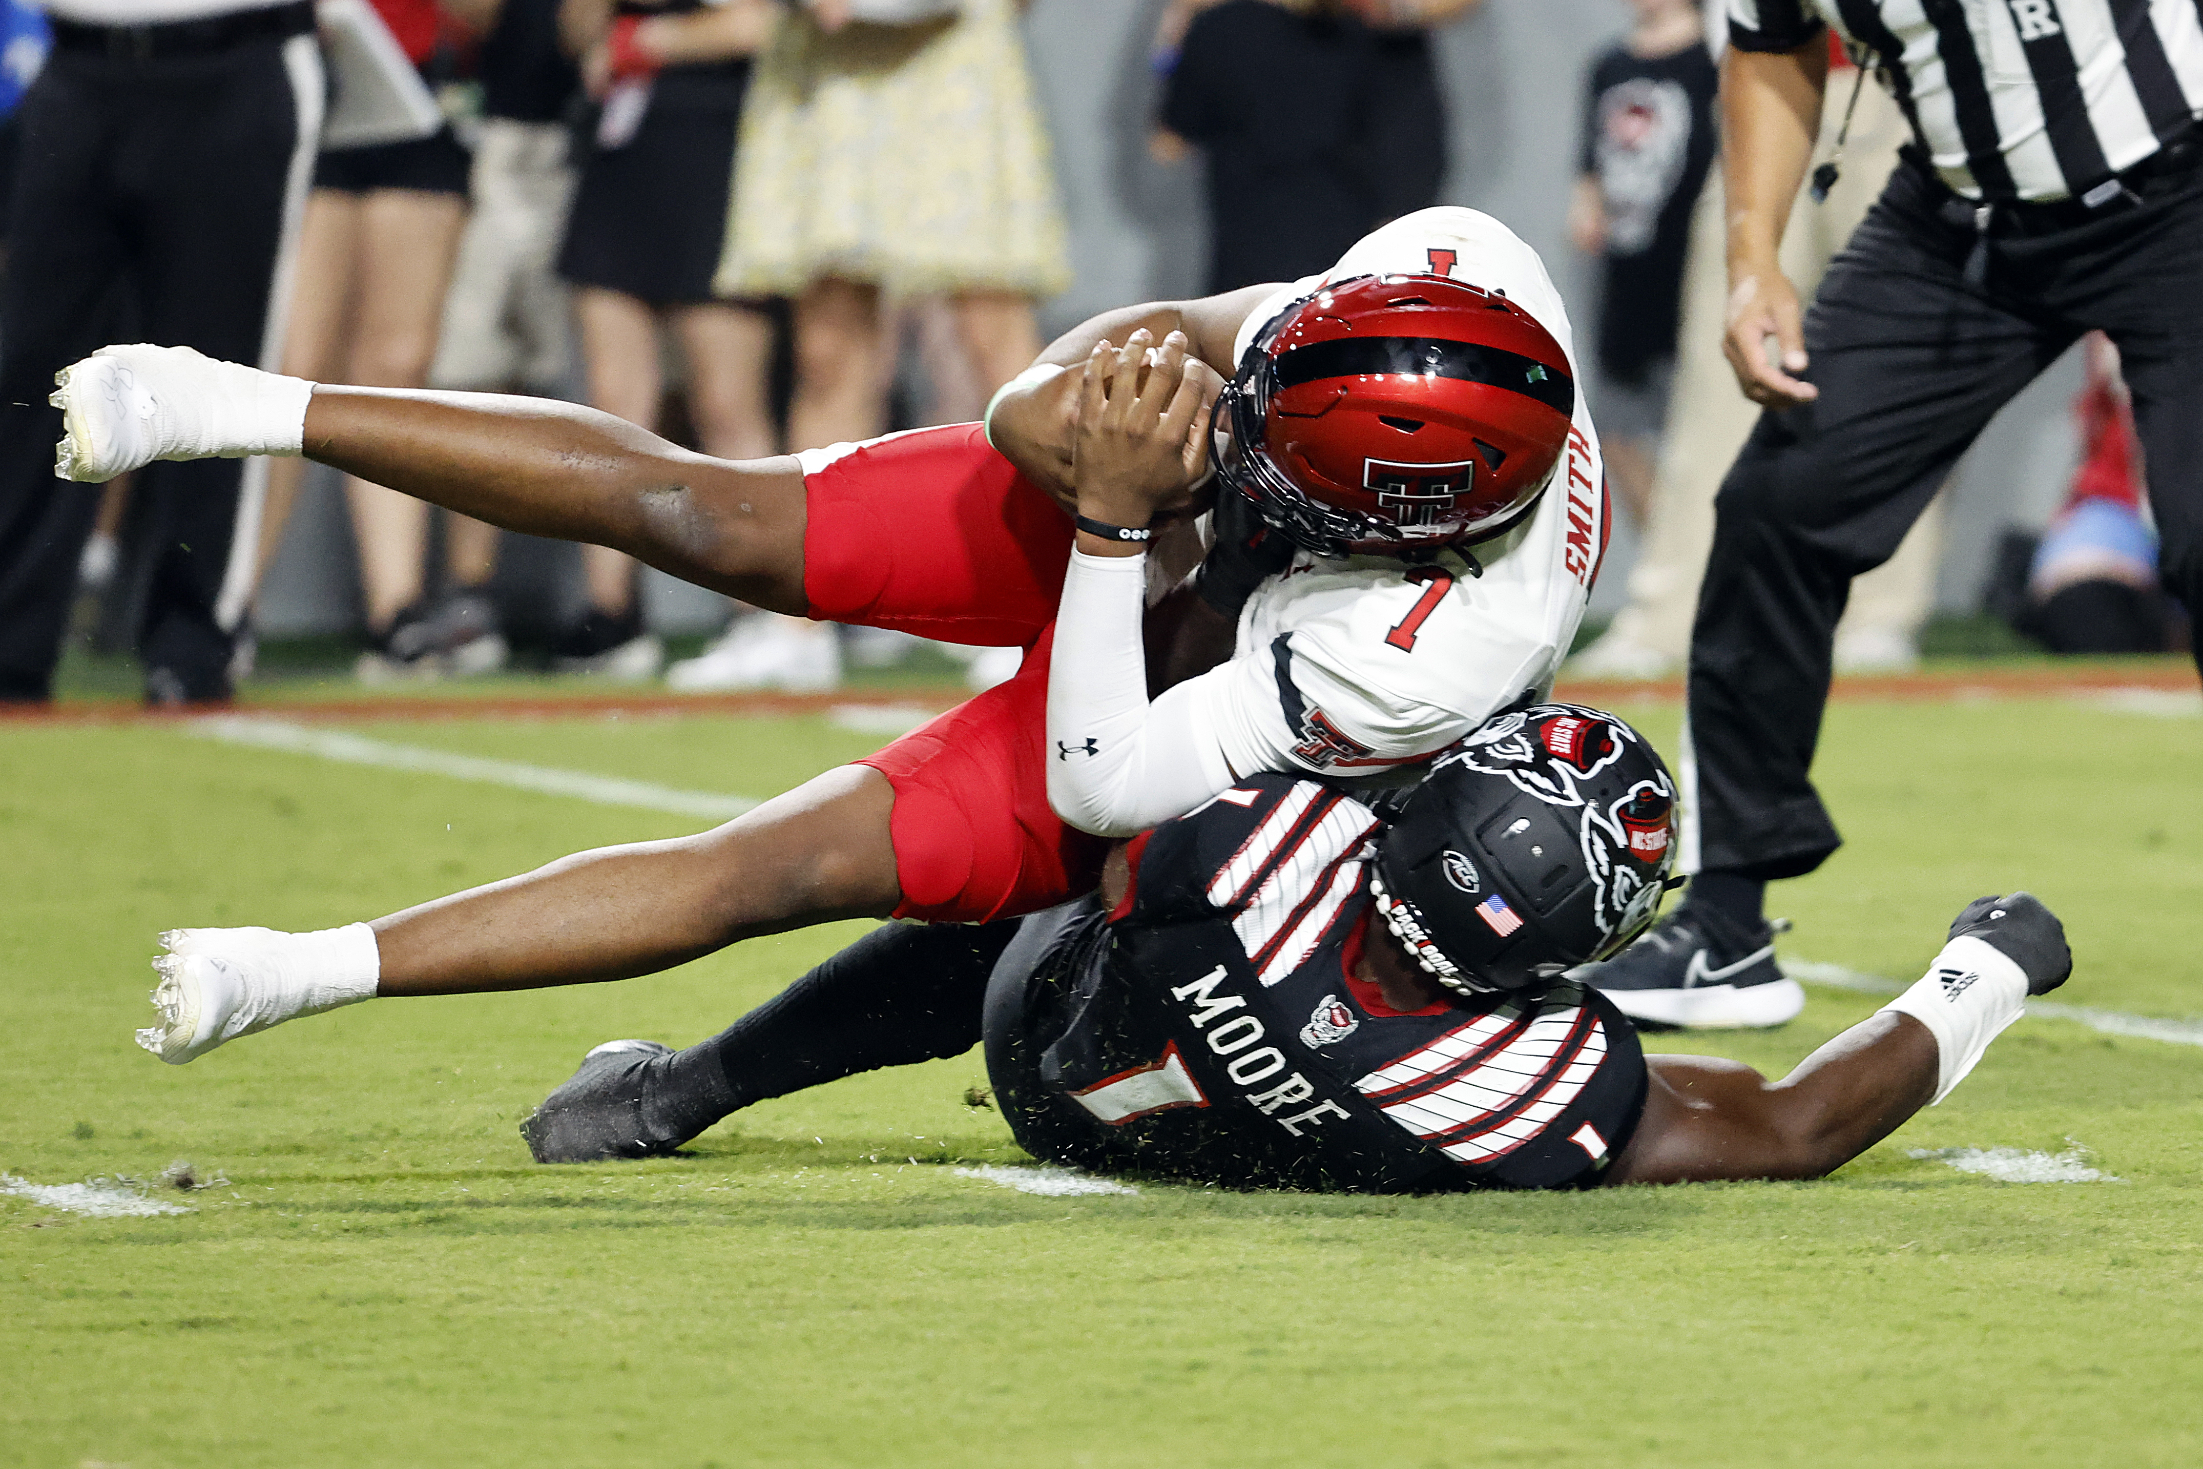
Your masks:
<svg viewBox="0 0 2203 1469"><path fill-rule="evenodd" d="M1326 784L1258 775L1135 841L1113 912L1060 910L1016 1064L989 1018L1020 1141L1236 1187L1597 1183L1643 1110L1630 1022L1573 984L1390 1009L1353 973L1377 830Z"/></svg>

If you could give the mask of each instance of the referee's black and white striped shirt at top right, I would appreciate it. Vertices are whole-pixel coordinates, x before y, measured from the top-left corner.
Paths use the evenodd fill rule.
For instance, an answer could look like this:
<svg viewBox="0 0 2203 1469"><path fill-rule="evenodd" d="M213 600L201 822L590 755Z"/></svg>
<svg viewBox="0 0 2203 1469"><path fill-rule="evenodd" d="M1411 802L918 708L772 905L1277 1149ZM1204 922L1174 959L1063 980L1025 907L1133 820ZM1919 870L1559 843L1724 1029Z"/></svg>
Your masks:
<svg viewBox="0 0 2203 1469"><path fill-rule="evenodd" d="M1727 0L1743 51L1835 24L1958 194L2104 203L2203 112L2203 0Z"/></svg>

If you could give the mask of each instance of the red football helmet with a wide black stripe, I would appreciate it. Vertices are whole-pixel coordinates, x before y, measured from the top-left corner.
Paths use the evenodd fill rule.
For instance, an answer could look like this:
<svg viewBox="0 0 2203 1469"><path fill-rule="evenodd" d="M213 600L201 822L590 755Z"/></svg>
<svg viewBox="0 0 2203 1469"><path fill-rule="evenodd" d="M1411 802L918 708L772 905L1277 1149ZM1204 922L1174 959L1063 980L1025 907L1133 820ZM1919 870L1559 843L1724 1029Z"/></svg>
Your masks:
<svg viewBox="0 0 2203 1469"><path fill-rule="evenodd" d="M1355 275L1280 311L1212 418L1223 482L1317 555L1489 540L1569 443L1569 357L1505 295Z"/></svg>

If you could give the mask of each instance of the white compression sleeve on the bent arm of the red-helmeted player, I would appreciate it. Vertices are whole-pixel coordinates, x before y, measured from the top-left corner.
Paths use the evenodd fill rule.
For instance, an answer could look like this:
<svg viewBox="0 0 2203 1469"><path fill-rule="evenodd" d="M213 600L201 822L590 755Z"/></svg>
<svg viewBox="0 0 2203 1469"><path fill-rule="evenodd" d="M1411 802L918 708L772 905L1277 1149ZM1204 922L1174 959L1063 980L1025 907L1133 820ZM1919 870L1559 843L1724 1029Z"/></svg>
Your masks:
<svg viewBox="0 0 2203 1469"><path fill-rule="evenodd" d="M1146 555L1071 553L1049 656L1049 806L1097 837L1130 837L1231 786L1185 683L1148 703Z"/></svg>

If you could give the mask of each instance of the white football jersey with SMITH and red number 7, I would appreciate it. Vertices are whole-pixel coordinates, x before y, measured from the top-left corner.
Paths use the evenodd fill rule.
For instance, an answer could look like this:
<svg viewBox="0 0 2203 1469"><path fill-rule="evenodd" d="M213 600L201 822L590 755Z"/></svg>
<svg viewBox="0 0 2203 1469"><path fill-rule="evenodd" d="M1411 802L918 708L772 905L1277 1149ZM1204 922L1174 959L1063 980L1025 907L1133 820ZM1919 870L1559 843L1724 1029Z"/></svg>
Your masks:
<svg viewBox="0 0 2203 1469"><path fill-rule="evenodd" d="M1326 280L1379 273L1452 275L1533 315L1577 383L1569 451L1538 509L1469 553L1414 566L1304 551L1262 581L1240 612L1236 656L1205 676L1225 685L1203 705L1238 775L1377 775L1445 749L1524 694L1544 698L1606 551L1606 476L1569 313L1538 251L1491 216L1441 207L1386 225L1324 275L1262 302L1236 355Z"/></svg>

